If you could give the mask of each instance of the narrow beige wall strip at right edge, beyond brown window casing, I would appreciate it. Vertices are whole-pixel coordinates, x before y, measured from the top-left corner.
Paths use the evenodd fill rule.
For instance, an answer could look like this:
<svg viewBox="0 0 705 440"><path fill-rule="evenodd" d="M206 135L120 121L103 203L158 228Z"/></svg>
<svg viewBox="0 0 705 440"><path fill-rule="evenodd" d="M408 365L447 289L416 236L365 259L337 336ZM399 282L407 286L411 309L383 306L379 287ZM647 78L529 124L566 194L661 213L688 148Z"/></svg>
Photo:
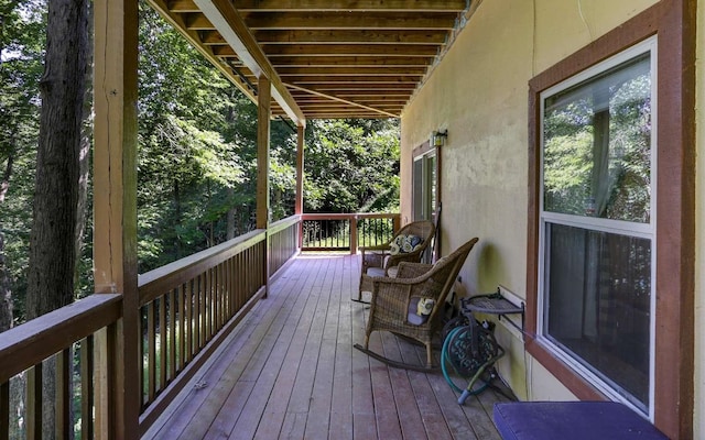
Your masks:
<svg viewBox="0 0 705 440"><path fill-rule="evenodd" d="M695 167L695 414L693 438L705 438L705 1L697 10Z"/></svg>

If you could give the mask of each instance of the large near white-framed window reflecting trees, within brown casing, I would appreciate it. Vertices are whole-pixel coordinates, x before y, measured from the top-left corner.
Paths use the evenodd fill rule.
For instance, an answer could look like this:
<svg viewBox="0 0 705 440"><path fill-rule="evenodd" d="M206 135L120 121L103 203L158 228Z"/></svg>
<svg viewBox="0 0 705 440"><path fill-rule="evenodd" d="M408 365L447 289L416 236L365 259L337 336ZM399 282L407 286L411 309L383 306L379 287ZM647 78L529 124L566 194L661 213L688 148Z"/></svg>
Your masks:
<svg viewBox="0 0 705 440"><path fill-rule="evenodd" d="M653 402L655 37L540 95L538 334L644 415Z"/></svg>

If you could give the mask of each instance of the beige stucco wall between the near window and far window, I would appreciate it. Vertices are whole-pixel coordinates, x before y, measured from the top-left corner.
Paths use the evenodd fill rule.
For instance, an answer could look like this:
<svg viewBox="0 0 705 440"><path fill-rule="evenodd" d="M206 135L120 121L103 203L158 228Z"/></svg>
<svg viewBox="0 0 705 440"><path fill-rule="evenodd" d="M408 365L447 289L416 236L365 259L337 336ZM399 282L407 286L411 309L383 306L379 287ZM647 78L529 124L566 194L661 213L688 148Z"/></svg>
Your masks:
<svg viewBox="0 0 705 440"><path fill-rule="evenodd" d="M525 297L529 79L654 3L484 0L405 109L402 188L411 187L413 147L433 130L448 130L442 246L446 254L480 238L462 273L468 294L501 284ZM402 194L402 220L409 220L410 191ZM520 398L574 398L524 353L517 332L498 329L500 343L510 349L500 374Z"/></svg>

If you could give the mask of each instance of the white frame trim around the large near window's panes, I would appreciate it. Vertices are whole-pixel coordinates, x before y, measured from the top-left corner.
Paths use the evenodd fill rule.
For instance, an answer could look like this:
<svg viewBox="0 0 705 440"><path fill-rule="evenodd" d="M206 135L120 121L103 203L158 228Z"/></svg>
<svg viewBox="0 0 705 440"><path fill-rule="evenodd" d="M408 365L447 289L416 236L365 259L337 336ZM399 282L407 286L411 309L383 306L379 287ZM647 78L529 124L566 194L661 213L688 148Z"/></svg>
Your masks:
<svg viewBox="0 0 705 440"><path fill-rule="evenodd" d="M572 216L556 212L546 212L544 211L543 206L543 146L544 146L544 127L543 127L543 114L544 114L544 102L545 99L550 96L553 96L562 90L565 90L572 86L581 84L587 79L593 78L594 76L609 69L616 67L629 59L632 59L639 55L650 52L650 64L651 64L651 201L650 201L650 222L649 223L632 223L620 220L609 220L609 219L595 219L589 217L581 217L581 216ZM655 414L655 405L654 405L654 395L655 395L655 300L657 300L657 167L658 167L658 37L651 36L644 40L641 43L638 43L619 54L616 54L595 66L583 70L582 73L567 78L566 80L558 82L557 85L550 87L543 90L540 94L540 187L539 194L539 274L538 274L538 306L536 306L536 338L542 342L542 344L550 351L554 356L565 362L571 369L578 372L583 377L585 377L593 386L595 386L599 392L605 394L612 400L620 402L639 414L642 414L649 418L652 422L654 421ZM648 414L643 413L641 407L632 404L630 399L620 394L616 388L609 385L601 377L597 376L595 373L585 367L581 362L578 362L575 358L570 355L566 351L561 349L557 344L555 344L546 334L544 334L545 321L544 321L544 310L545 310L545 274L546 274L546 263L545 263L545 246L546 246L546 223L557 223L564 226L574 226L578 228L617 233L629 237L637 238L647 238L651 240L651 311L650 311L650 342L649 342L649 402L648 402Z"/></svg>

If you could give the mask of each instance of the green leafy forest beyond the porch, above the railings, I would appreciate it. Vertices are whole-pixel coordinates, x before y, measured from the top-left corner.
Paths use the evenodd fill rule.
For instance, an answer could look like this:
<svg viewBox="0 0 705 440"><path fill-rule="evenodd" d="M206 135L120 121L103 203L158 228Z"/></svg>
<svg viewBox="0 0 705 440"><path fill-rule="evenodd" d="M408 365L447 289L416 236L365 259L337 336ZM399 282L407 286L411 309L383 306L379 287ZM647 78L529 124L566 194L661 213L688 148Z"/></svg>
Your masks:
<svg viewBox="0 0 705 440"><path fill-rule="evenodd" d="M45 0L0 0L0 309L10 311L0 331L25 320L33 195L43 173L36 152L46 8ZM254 228L257 107L142 1L139 81L144 273ZM88 77L75 298L93 293L90 84ZM272 122L270 154L275 221L294 206L296 133L289 121ZM399 210L398 120L307 121L304 163L304 212Z"/></svg>

